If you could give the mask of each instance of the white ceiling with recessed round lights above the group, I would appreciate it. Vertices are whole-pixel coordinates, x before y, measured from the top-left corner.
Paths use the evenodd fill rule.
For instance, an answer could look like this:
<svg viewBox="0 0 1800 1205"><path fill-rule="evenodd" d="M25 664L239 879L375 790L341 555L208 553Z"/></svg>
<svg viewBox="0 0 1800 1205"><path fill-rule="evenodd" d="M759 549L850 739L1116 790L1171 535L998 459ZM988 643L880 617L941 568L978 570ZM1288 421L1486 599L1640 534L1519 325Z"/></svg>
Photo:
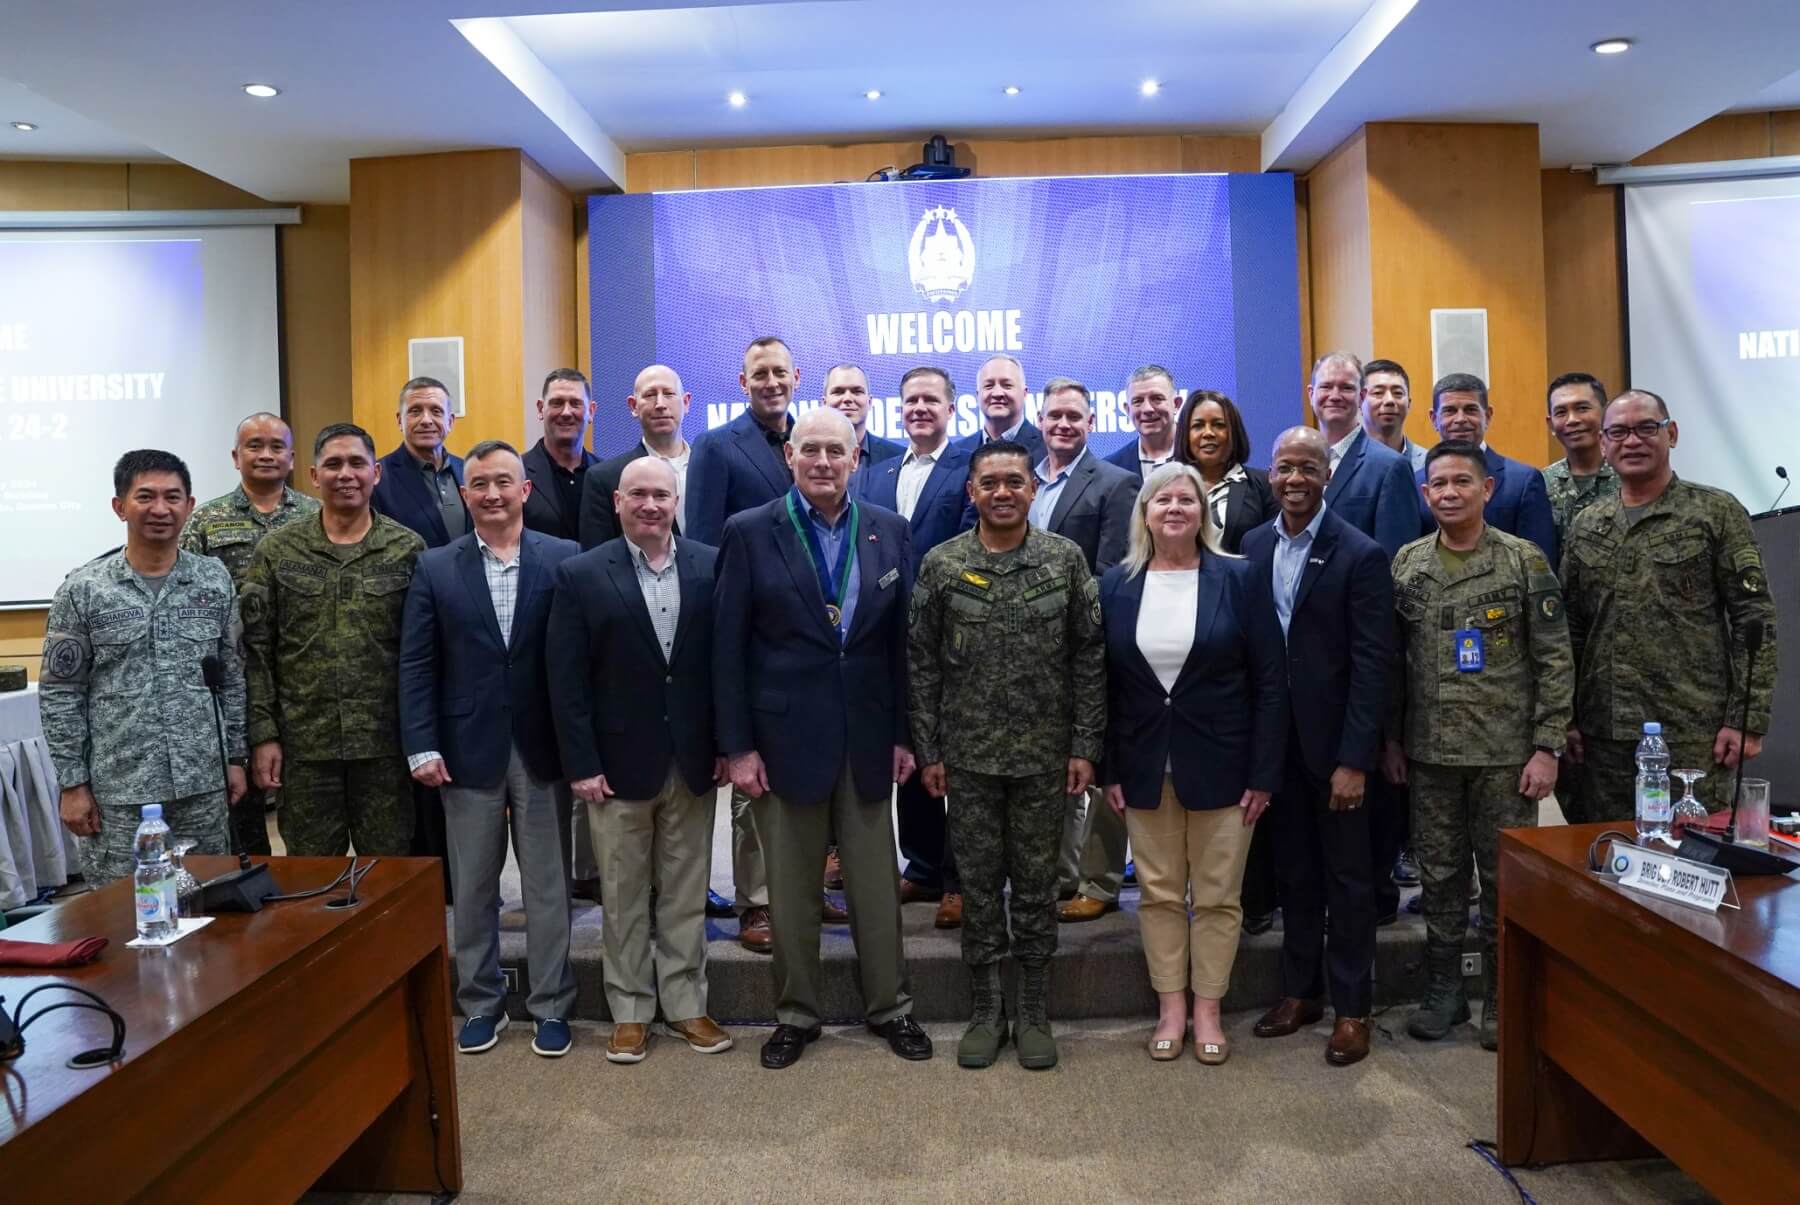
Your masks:
<svg viewBox="0 0 1800 1205"><path fill-rule="evenodd" d="M0 157L191 164L342 202L365 155L520 146L574 191L623 151L1120 130L1260 133L1305 169L1364 121L1526 121L1620 162L1800 106L1795 0L14 0ZM473 9L473 11L472 11ZM452 22L461 22L455 25ZM1602 59L1588 43L1631 36ZM1143 77L1165 81L1141 97ZM239 86L270 81L274 101ZM1001 94L1017 83L1015 97ZM862 92L880 88L880 101ZM749 95L734 110L731 90Z"/></svg>

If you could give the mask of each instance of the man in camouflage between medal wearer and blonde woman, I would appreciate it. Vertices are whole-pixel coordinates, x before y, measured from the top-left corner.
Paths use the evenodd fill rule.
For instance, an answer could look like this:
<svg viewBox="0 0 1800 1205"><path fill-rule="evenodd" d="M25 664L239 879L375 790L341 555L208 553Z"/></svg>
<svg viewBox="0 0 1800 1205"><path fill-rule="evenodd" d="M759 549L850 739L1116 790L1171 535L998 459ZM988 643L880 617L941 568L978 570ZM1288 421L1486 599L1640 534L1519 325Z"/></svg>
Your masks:
<svg viewBox="0 0 1800 1205"><path fill-rule="evenodd" d="M1024 445L976 450L968 495L981 521L925 555L907 634L913 744L925 787L949 791L963 879L974 1021L961 1066L992 1065L1006 1041L1008 879L1019 1063L1057 1065L1048 996L1062 812L1093 782L1105 737L1100 589L1078 544L1030 526L1035 486Z"/></svg>

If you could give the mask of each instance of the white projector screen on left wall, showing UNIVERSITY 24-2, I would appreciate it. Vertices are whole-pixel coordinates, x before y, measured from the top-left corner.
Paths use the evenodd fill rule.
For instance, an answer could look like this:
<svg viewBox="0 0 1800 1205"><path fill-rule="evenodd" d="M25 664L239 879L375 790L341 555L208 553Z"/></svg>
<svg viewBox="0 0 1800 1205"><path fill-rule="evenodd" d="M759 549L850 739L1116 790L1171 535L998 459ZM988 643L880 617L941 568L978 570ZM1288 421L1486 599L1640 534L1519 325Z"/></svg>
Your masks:
<svg viewBox="0 0 1800 1205"><path fill-rule="evenodd" d="M124 542L112 467L236 483L236 423L281 409L274 227L0 229L0 607L43 605Z"/></svg>

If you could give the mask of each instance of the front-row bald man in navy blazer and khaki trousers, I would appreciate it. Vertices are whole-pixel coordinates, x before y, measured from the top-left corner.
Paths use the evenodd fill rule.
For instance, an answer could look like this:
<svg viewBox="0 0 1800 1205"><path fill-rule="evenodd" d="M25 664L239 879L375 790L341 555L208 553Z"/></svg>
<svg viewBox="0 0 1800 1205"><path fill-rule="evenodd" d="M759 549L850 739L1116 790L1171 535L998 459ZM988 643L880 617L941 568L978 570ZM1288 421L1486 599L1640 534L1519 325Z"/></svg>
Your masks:
<svg viewBox="0 0 1800 1205"><path fill-rule="evenodd" d="M725 776L713 728L715 551L675 542L677 488L666 459L626 465L625 535L565 560L551 605L556 735L601 850L612 1063L643 1061L659 1003L691 1050L731 1048L706 1009L704 901Z"/></svg>

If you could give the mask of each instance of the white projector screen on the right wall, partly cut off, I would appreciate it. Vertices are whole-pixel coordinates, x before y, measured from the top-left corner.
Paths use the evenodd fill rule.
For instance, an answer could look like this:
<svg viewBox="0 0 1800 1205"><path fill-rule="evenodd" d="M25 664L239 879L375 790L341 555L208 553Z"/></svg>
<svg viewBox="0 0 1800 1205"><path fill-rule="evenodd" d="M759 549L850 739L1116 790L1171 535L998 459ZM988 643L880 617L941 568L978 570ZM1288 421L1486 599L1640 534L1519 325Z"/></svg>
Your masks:
<svg viewBox="0 0 1800 1205"><path fill-rule="evenodd" d="M1669 400L1676 472L1768 510L1775 467L1800 474L1800 177L1627 186L1625 279L1631 384Z"/></svg>

